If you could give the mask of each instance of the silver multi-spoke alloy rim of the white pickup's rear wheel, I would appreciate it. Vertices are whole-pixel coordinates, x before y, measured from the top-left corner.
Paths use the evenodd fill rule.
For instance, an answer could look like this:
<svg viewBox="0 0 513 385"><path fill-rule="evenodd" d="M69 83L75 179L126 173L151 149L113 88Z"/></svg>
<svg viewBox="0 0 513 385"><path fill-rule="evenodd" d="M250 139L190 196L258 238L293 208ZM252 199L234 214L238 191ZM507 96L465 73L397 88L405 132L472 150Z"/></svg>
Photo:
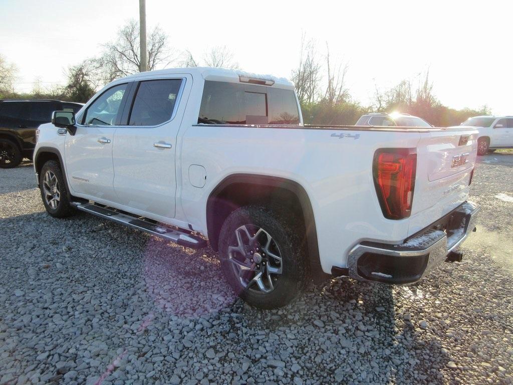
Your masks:
<svg viewBox="0 0 513 385"><path fill-rule="evenodd" d="M270 293L283 273L278 244L263 228L243 225L231 236L228 261L242 286L258 293Z"/></svg>

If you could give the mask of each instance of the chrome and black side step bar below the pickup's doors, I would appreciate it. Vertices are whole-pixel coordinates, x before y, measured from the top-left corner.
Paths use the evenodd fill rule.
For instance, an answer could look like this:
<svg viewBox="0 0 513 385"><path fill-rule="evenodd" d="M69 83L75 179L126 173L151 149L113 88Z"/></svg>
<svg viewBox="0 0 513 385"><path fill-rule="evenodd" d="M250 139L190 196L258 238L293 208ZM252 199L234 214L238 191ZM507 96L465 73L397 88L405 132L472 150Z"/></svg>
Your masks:
<svg viewBox="0 0 513 385"><path fill-rule="evenodd" d="M150 222L143 217L130 215L124 211L117 211L111 207L104 207L94 203L73 202L73 205L81 211L93 214L97 217L108 219L112 222L121 223L125 226L141 230L159 238L177 243L181 246L200 249L207 246L207 241L191 235L188 230L169 227L162 224Z"/></svg>

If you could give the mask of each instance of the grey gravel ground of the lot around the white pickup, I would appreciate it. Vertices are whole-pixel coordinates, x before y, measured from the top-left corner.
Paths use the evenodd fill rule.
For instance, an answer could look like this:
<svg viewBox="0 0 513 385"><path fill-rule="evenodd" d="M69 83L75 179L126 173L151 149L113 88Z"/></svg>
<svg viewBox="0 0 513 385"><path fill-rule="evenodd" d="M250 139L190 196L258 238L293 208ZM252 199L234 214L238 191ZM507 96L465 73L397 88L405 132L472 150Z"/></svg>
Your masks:
<svg viewBox="0 0 513 385"><path fill-rule="evenodd" d="M236 299L210 249L53 219L30 164L0 169L0 384L512 384L513 152L480 160L462 263L277 311Z"/></svg>

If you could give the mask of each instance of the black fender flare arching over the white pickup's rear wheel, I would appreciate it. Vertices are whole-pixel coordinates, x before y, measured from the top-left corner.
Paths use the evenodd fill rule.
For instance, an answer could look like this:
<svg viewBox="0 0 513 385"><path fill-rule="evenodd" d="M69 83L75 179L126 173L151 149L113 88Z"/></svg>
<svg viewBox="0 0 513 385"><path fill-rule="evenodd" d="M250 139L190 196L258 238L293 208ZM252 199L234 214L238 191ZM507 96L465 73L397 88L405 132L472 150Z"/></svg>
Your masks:
<svg viewBox="0 0 513 385"><path fill-rule="evenodd" d="M232 174L224 178L215 188L210 192L207 200L206 214L207 214L207 233L209 240L214 241L218 237L213 235L214 232L214 218L209 213L213 213L215 206L215 198L219 196L220 193L229 185L234 183L244 183L244 184L258 184L265 185L269 187L278 187L288 190L292 194L294 194L303 211L303 218L305 221L305 230L306 230L306 239L308 246L308 258L310 261L310 267L312 271L312 277L314 279L324 279L328 274L324 273L321 267L321 259L319 254L319 242L317 238L317 227L315 226L315 218L313 215L313 209L310 202L310 198L303 188L301 184L295 182L291 179L281 178L281 177L273 177L267 175L259 175L259 174ZM213 243L210 242L212 245Z"/></svg>

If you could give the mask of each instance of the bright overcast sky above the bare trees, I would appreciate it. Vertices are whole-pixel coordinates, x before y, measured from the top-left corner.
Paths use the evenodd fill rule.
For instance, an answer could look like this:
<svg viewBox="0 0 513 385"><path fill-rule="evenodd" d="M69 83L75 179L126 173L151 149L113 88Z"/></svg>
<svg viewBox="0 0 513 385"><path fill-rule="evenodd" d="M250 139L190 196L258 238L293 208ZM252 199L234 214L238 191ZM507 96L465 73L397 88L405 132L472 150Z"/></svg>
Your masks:
<svg viewBox="0 0 513 385"><path fill-rule="evenodd" d="M290 78L301 35L326 42L348 63L347 85L370 104L374 84L417 82L454 108L487 104L513 114L513 2L507 1L163 1L147 0L148 29L160 25L177 51L201 57L226 45L244 70ZM0 53L18 67L18 91L64 82L65 69L101 52L137 0L0 0Z"/></svg>

